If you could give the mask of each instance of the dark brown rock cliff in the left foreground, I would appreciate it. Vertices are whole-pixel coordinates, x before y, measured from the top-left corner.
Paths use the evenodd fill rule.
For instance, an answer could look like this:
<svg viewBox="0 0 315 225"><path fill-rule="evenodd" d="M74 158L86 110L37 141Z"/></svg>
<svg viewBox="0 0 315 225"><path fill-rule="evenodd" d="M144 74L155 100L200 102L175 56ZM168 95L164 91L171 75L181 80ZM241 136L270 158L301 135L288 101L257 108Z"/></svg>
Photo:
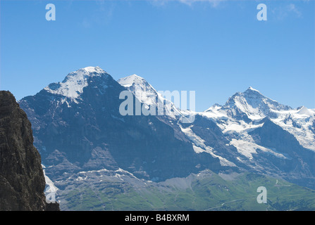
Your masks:
<svg viewBox="0 0 315 225"><path fill-rule="evenodd" d="M9 91L0 91L0 210L59 210L47 204L41 158L30 121Z"/></svg>

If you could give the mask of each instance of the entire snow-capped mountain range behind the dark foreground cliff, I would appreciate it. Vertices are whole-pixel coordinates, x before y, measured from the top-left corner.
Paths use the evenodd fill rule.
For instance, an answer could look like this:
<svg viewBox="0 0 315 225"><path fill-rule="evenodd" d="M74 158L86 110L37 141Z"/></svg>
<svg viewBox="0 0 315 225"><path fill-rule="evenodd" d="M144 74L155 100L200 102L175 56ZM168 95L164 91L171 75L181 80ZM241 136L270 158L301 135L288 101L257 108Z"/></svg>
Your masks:
<svg viewBox="0 0 315 225"><path fill-rule="evenodd" d="M167 113L123 116L122 91L134 106L162 105ZM266 210L249 198L251 184L274 191L269 210L314 209L314 109L249 87L225 105L180 110L142 77L116 81L99 67L71 72L18 103L61 210Z"/></svg>

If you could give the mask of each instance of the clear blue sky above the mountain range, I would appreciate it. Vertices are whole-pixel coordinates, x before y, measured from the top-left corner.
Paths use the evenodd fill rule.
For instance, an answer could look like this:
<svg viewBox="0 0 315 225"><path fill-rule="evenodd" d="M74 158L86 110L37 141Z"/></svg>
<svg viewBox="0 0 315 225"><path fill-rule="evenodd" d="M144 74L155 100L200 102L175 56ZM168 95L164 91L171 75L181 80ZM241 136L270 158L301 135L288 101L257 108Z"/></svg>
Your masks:
<svg viewBox="0 0 315 225"><path fill-rule="evenodd" d="M47 21L46 4L56 6ZM267 21L257 20L257 5ZM196 109L249 86L315 108L314 1L1 1L1 83L19 100L99 66L156 90L196 91Z"/></svg>

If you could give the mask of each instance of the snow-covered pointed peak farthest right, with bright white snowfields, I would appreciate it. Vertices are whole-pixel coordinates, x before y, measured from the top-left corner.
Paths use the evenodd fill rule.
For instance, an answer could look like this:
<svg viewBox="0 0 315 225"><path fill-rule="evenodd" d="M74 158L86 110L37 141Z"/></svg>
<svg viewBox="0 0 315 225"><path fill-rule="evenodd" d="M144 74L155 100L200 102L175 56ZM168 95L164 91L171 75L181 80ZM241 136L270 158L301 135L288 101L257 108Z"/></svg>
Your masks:
<svg viewBox="0 0 315 225"><path fill-rule="evenodd" d="M211 106L202 115L217 121L223 133L235 132L240 136L244 136L246 130L261 126L262 119L268 117L293 134L301 146L315 150L315 110L305 106L293 109L282 105L252 87L237 92L222 107Z"/></svg>

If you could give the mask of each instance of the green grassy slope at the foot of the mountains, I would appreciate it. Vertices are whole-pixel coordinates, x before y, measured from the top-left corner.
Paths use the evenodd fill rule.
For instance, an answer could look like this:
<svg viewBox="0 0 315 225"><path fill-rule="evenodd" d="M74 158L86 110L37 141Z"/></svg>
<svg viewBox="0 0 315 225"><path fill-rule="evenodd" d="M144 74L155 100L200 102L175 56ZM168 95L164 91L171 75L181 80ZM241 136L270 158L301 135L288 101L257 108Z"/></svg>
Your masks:
<svg viewBox="0 0 315 225"><path fill-rule="evenodd" d="M267 189L266 204L257 203L259 186ZM257 174L194 176L189 188L104 182L74 189L66 200L68 210L315 210L315 191Z"/></svg>

